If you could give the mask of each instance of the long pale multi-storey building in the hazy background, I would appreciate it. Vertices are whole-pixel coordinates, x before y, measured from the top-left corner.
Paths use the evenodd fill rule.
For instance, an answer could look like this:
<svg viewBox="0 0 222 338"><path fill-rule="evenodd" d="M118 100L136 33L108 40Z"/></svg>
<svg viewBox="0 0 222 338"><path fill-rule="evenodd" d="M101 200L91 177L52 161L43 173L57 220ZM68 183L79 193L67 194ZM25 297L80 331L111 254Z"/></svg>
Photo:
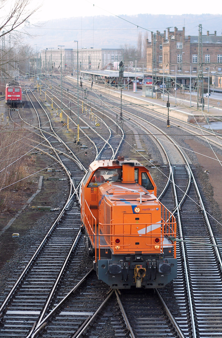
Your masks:
<svg viewBox="0 0 222 338"><path fill-rule="evenodd" d="M120 48L79 48L78 52L79 70L118 70L118 64L123 57L123 50ZM41 50L41 67L46 72L62 67L62 71L76 73L77 49L57 47Z"/></svg>

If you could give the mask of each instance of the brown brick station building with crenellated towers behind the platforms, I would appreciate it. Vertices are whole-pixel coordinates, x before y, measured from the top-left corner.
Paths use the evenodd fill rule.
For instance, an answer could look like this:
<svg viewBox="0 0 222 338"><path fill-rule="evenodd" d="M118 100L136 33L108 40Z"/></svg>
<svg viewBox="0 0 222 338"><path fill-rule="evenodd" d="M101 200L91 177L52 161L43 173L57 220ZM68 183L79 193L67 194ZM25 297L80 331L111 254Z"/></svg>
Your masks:
<svg viewBox="0 0 222 338"><path fill-rule="evenodd" d="M199 54L200 55L200 54ZM173 31L168 28L161 34L151 33L151 41L147 39L147 71L155 70L170 74L186 74L198 72L198 35L185 35L185 27ZM202 71L214 71L220 73L222 70L222 36L217 32L202 35ZM206 69L207 68L207 69Z"/></svg>

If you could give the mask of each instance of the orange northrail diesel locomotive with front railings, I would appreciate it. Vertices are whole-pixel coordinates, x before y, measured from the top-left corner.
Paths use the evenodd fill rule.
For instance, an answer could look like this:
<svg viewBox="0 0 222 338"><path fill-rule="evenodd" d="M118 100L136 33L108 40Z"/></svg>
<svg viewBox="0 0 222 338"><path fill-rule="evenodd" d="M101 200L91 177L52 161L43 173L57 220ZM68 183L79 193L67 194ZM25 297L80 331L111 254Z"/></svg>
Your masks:
<svg viewBox="0 0 222 338"><path fill-rule="evenodd" d="M111 288L161 288L176 277L175 218L142 164L99 160L81 188L82 231L98 278Z"/></svg>

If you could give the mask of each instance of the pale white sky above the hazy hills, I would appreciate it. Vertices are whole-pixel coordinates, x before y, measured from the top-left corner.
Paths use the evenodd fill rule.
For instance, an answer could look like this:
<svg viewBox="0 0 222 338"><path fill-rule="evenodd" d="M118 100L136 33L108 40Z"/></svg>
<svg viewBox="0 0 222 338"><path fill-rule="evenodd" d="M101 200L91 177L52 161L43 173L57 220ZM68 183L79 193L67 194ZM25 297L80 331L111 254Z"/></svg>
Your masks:
<svg viewBox="0 0 222 338"><path fill-rule="evenodd" d="M38 2L39 4L39 2ZM93 6L94 4L94 6ZM59 18L84 17L96 15L136 15L136 14L218 14L221 10L221 2L214 1L214 6L205 6L206 0L201 2L187 0L186 6L183 1L177 1L174 4L165 0L156 1L140 0L136 1L104 1L104 0L43 0L41 8L33 15L30 21L48 21ZM205 4L205 5L204 5ZM32 2L36 5L36 1Z"/></svg>

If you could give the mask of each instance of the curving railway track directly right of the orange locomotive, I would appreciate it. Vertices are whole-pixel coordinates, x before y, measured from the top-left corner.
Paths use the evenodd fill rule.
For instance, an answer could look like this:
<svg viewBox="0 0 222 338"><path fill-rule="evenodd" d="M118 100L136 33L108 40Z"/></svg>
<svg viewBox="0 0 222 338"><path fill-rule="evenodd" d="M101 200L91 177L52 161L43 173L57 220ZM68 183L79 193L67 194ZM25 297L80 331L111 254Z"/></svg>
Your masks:
<svg viewBox="0 0 222 338"><path fill-rule="evenodd" d="M129 115L126 112L124 114L125 118ZM139 117L138 120L142 121L140 128L144 130L142 126L146 125L146 120ZM153 125L152 127L154 128ZM201 128L198 129L202 131ZM160 132L160 129L158 131ZM156 133L157 129L149 132L149 134ZM167 140L165 140L166 138ZM210 138L209 141L211 141ZM181 245L178 245L179 251L182 250L182 256L179 257L179 278L173 282L177 290L175 299L178 299L177 302L175 301L175 304L180 305L181 313L184 313L185 316L181 316L177 320L185 336L210 336L214 334L217 320L221 318L221 313L218 314L218 312L216 318L211 316L212 312L216 312L216 307L219 306L220 308L221 306L220 298L215 300L215 295L220 295L221 293L221 251L214 246L221 243L219 239L220 234L213 233L211 227L212 219L209 219L209 215L205 210L202 196L193 174L194 168L190 167L186 156L172 139L164 135L164 137L161 137L160 142L167 149L166 152L171 166L173 165L172 184L171 187L169 185L169 192L166 190L165 194L163 194L165 199L163 197L162 202L166 206L169 206L170 210L176 210L178 223L180 224L180 238L185 241L190 240L194 242L182 242ZM220 143L218 143L218 146L220 146ZM176 147L177 154L175 154L173 147ZM185 191L189 193L189 196L184 193ZM174 205L172 205L172 194L174 195ZM217 238L215 239L215 237ZM209 247L206 248L203 243L208 244ZM184 262L185 257L186 260ZM208 265L202 262L210 262L212 268L209 269ZM186 294L182 294L181 292L185 287L184 276L186 276L185 279L187 281ZM211 281L212 277L215 279L213 283ZM187 299L185 300L185 298ZM206 312L204 312L204 307L207 308ZM207 325L204 327L204 320L206 318L208 318ZM187 320L189 325L185 325ZM217 328L216 331L219 336L220 328Z"/></svg>

